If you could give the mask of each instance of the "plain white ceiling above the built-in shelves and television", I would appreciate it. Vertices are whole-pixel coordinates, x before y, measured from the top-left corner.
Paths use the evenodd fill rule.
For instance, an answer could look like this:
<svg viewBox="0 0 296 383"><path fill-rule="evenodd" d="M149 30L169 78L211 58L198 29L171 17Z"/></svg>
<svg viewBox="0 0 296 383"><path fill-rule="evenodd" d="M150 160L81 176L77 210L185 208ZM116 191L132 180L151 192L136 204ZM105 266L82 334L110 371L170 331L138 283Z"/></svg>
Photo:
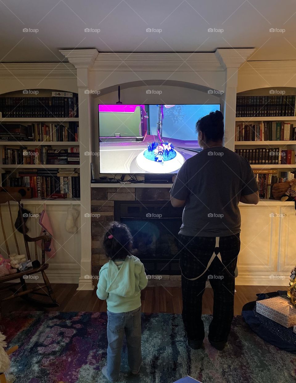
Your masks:
<svg viewBox="0 0 296 383"><path fill-rule="evenodd" d="M295 0L0 0L0 62L66 61L59 49L74 48L211 52L255 47L250 60L296 60L295 25Z"/></svg>

